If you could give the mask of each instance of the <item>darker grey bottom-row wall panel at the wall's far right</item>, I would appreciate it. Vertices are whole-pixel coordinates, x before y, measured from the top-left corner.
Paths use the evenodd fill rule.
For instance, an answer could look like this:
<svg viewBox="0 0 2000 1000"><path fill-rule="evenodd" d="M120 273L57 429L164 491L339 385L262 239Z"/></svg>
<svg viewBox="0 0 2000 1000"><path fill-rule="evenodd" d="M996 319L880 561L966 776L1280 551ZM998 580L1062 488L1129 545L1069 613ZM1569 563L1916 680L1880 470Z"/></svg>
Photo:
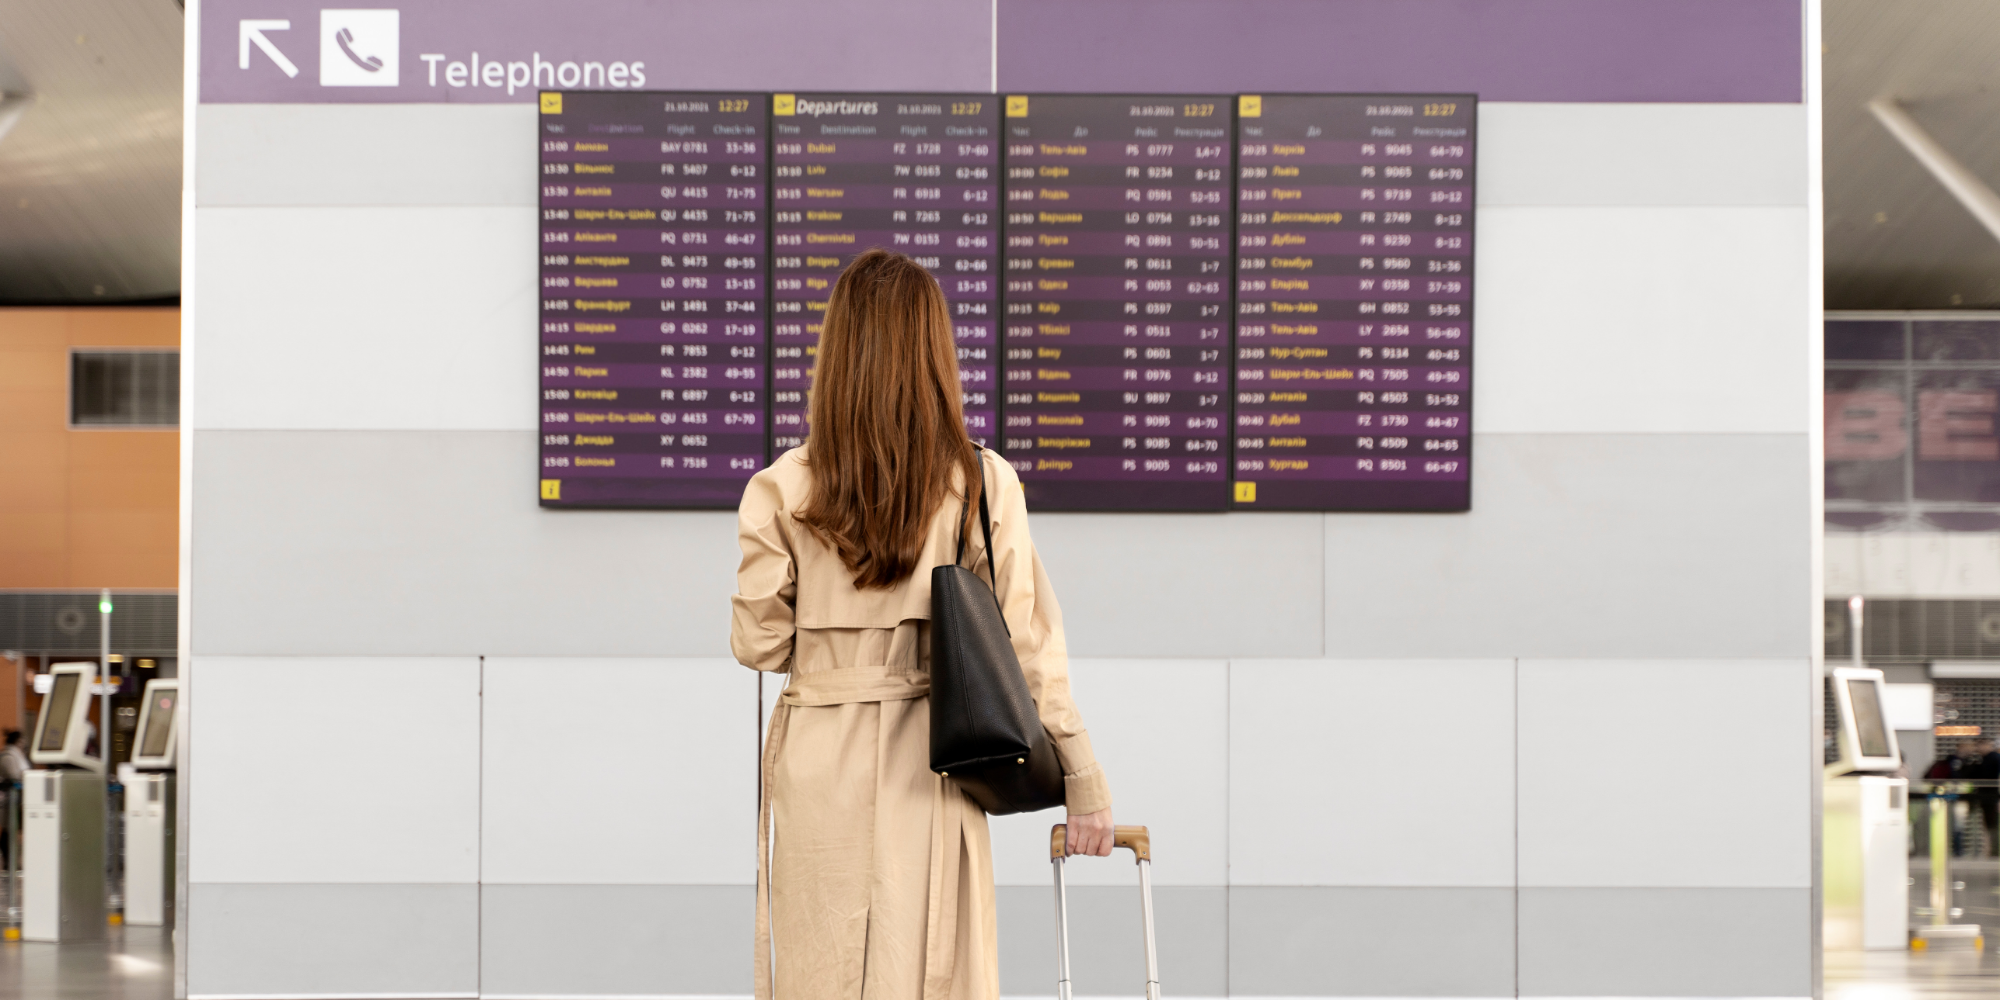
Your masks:
<svg viewBox="0 0 2000 1000"><path fill-rule="evenodd" d="M1520 996L1810 996L1804 888L1524 888Z"/></svg>

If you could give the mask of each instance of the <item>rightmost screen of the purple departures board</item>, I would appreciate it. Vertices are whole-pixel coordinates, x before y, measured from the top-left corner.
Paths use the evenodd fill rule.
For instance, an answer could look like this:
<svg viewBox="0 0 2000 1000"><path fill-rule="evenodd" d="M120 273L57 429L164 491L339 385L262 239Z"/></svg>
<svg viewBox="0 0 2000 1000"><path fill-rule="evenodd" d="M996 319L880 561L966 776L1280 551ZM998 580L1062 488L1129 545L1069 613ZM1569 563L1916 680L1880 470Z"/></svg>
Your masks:
<svg viewBox="0 0 2000 1000"><path fill-rule="evenodd" d="M1472 506L1476 116L1238 98L1236 508Z"/></svg>

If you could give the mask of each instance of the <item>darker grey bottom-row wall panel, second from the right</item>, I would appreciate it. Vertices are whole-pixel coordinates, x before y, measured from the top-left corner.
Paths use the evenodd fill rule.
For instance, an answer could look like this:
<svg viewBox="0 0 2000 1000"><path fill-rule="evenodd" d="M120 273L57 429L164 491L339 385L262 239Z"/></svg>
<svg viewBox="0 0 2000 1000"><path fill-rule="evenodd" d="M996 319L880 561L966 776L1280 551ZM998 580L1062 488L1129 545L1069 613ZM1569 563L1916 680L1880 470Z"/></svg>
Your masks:
<svg viewBox="0 0 2000 1000"><path fill-rule="evenodd" d="M1230 994L1512 996L1510 888L1230 888Z"/></svg>

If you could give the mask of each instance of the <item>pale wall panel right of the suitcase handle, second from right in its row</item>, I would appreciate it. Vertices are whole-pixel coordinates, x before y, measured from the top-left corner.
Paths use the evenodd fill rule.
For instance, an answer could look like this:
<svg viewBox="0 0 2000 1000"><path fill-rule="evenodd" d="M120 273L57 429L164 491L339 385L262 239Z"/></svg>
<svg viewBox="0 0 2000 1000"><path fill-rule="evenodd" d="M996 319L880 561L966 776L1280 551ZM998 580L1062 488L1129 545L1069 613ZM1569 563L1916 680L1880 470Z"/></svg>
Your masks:
<svg viewBox="0 0 2000 1000"><path fill-rule="evenodd" d="M1232 886L1512 886L1512 660L1232 660Z"/></svg>

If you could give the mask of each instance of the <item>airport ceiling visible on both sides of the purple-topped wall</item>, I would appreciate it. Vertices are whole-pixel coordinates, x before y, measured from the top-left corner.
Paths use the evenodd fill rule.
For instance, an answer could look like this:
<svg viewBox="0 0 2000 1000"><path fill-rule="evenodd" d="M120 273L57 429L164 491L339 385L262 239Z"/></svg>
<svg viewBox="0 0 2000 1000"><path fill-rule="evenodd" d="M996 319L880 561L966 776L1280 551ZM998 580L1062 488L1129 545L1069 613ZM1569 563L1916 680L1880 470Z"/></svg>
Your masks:
<svg viewBox="0 0 2000 1000"><path fill-rule="evenodd" d="M0 302L180 294L180 50L174 0L0 0ZM2000 240L1866 110L2000 186L1994 52L1994 0L1826 0L1828 308L2000 306Z"/></svg>

